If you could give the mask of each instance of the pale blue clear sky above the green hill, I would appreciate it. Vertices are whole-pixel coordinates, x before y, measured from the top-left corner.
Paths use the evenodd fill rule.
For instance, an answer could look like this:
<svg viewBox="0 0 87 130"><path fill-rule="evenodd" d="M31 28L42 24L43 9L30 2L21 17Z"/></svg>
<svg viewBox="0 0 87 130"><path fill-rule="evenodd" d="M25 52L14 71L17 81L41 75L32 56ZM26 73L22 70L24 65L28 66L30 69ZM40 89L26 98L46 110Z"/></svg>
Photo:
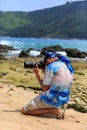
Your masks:
<svg viewBox="0 0 87 130"><path fill-rule="evenodd" d="M0 0L0 11L34 11L80 0Z"/></svg>

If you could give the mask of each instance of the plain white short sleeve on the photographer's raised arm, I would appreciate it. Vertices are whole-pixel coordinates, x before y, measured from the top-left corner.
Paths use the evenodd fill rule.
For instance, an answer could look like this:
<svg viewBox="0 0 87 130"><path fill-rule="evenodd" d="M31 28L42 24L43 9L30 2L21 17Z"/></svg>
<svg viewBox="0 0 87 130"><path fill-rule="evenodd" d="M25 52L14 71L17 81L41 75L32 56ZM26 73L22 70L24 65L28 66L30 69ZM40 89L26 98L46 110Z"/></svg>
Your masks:
<svg viewBox="0 0 87 130"><path fill-rule="evenodd" d="M51 70L46 70L44 79L43 79L43 85L50 85L53 77L53 72Z"/></svg>

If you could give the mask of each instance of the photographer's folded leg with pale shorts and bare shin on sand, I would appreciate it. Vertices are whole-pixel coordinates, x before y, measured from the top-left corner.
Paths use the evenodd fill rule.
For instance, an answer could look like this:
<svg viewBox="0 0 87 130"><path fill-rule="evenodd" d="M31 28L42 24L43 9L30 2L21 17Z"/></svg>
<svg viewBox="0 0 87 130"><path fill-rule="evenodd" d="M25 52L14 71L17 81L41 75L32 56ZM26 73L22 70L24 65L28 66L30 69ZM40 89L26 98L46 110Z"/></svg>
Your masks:
<svg viewBox="0 0 87 130"><path fill-rule="evenodd" d="M40 96L35 97L30 102L25 104L24 107L21 109L21 113L33 116L53 114L56 115L57 118L61 115L61 111L59 108L52 108L50 106L47 106L40 100Z"/></svg>

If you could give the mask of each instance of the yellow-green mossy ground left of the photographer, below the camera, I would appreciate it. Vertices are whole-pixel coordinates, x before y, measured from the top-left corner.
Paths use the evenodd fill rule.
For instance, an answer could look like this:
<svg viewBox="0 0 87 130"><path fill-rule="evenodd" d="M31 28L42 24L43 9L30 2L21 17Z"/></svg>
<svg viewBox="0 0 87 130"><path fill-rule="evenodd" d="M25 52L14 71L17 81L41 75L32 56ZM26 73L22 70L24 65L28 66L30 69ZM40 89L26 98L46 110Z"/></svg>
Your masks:
<svg viewBox="0 0 87 130"><path fill-rule="evenodd" d="M26 58L28 61L32 61L32 58ZM39 60L39 59L35 59ZM39 88L41 89L36 75L33 73L32 69L24 69L25 59L16 58L13 60L6 60L0 62L0 82L12 83L17 87L24 88Z"/></svg>

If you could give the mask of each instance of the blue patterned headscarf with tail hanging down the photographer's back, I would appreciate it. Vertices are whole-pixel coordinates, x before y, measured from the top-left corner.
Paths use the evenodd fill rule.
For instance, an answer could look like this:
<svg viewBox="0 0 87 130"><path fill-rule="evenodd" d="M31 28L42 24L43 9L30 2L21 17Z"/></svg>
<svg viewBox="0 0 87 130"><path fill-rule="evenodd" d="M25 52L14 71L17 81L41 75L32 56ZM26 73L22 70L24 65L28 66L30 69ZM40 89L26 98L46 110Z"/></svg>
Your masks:
<svg viewBox="0 0 87 130"><path fill-rule="evenodd" d="M49 52L49 51L47 51L46 54L45 54L45 57L44 57L44 62L46 61L46 59L48 59L48 58L54 58L54 57L57 57L58 59L60 59L61 61L63 61L67 65L67 67L70 70L70 72L72 74L74 73L74 69L73 69L73 66L72 66L69 58L65 57L63 55L57 54L57 52Z"/></svg>

